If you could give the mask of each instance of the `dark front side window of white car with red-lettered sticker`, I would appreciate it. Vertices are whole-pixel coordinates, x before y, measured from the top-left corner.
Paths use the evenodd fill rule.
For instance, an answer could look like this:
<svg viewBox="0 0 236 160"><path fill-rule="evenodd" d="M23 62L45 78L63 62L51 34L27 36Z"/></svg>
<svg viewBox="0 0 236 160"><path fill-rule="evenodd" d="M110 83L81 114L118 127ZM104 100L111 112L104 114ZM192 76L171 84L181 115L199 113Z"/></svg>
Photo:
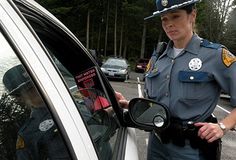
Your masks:
<svg viewBox="0 0 236 160"><path fill-rule="evenodd" d="M65 31L20 7L62 75L102 160L112 159L120 126L98 66Z"/></svg>

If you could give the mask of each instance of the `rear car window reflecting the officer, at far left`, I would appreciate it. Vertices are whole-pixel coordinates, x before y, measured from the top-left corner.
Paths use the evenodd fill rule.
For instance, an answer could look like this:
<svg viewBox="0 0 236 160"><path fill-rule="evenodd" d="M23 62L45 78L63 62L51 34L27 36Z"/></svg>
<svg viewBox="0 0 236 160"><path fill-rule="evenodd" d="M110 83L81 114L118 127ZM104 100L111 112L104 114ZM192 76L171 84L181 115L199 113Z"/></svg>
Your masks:
<svg viewBox="0 0 236 160"><path fill-rule="evenodd" d="M0 159L71 159L27 70L0 32Z"/></svg>

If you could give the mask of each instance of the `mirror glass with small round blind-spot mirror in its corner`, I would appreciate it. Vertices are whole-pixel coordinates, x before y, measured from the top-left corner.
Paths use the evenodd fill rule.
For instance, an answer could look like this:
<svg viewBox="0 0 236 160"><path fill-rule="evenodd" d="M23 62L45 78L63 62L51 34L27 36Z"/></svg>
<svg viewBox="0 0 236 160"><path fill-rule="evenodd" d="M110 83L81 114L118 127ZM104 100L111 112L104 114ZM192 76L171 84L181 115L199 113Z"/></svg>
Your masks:
<svg viewBox="0 0 236 160"><path fill-rule="evenodd" d="M130 108L130 113L137 123L156 127L163 127L167 119L166 110L162 105L146 99L137 100Z"/></svg>

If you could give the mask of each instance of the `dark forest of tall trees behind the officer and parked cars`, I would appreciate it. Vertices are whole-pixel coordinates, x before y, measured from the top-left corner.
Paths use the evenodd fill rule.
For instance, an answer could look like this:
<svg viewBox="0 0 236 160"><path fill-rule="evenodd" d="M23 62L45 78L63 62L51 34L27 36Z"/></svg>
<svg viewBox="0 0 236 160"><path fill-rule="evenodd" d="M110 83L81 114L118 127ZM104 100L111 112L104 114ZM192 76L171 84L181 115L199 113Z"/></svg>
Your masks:
<svg viewBox="0 0 236 160"><path fill-rule="evenodd" d="M160 41L168 42L154 0L37 0L60 19L87 49L98 56L135 62L150 58ZM202 0L197 4L196 33L224 44L236 55L236 0Z"/></svg>

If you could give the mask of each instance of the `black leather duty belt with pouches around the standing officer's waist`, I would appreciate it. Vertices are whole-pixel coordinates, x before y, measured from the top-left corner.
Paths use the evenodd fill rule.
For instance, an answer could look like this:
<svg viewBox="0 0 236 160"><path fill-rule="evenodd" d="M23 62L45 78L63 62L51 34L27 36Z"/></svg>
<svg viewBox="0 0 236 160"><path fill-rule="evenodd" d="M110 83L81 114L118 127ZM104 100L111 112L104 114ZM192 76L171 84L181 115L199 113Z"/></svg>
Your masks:
<svg viewBox="0 0 236 160"><path fill-rule="evenodd" d="M217 123L217 119L210 116L205 122ZM191 121L182 123L179 120L171 119L170 126L161 133L155 133L155 135L164 144L173 143L180 147L190 145L194 149L201 150L207 160L220 160L221 139L208 143L198 136L198 130L199 128L195 127Z"/></svg>

